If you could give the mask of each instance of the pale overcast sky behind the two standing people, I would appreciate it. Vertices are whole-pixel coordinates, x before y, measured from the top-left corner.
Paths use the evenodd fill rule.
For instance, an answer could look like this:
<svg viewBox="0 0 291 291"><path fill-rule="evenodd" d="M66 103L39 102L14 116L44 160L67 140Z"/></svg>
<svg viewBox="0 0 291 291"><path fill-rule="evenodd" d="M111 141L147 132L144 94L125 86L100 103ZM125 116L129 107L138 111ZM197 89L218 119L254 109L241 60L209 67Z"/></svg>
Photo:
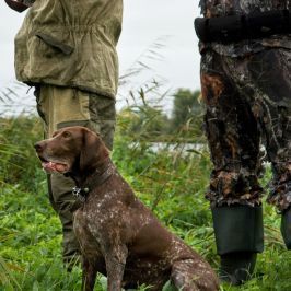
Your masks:
<svg viewBox="0 0 291 291"><path fill-rule="evenodd" d="M152 70L136 78L142 84L150 78L166 80L171 89L199 89L199 53L194 31L194 19L199 15L198 0L124 0L124 25L118 54L120 74L138 60ZM10 10L0 1L0 84L10 85L14 80L13 42L24 13ZM164 47L155 51L159 60L147 58L155 44ZM120 90L123 91L123 89Z"/></svg>

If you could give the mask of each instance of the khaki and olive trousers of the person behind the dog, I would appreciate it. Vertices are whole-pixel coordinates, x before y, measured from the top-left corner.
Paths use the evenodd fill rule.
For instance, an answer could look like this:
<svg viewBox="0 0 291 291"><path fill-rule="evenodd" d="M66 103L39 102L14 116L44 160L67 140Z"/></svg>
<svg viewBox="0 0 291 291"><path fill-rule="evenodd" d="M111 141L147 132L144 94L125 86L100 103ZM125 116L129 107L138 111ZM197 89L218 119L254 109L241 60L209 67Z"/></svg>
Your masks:
<svg viewBox="0 0 291 291"><path fill-rule="evenodd" d="M37 110L44 120L45 137L67 126L84 126L98 132L108 149L113 148L116 123L115 101L71 88L40 85L35 90ZM61 174L48 176L49 200L58 213L63 233L63 260L79 254L79 243L72 228L72 195L74 183Z"/></svg>

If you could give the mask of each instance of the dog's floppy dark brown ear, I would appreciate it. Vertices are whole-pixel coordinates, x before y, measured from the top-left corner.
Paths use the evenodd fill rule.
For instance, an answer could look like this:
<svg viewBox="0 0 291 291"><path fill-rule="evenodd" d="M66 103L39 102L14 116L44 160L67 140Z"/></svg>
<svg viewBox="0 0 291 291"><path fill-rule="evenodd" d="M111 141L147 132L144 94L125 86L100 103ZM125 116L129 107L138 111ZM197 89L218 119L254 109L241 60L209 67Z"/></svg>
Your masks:
<svg viewBox="0 0 291 291"><path fill-rule="evenodd" d="M89 129L83 130L83 146L80 153L80 170L97 170L109 156L109 151L100 136Z"/></svg>

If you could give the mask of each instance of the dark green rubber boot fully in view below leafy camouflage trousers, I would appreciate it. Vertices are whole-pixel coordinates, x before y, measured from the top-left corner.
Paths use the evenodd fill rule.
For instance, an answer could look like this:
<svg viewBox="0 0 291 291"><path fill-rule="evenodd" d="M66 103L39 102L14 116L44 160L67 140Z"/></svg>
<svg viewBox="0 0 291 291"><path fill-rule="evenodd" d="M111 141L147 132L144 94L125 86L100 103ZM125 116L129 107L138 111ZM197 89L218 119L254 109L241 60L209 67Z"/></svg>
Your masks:
<svg viewBox="0 0 291 291"><path fill-rule="evenodd" d="M257 253L264 249L261 207L212 208L220 279L234 286L251 279Z"/></svg>

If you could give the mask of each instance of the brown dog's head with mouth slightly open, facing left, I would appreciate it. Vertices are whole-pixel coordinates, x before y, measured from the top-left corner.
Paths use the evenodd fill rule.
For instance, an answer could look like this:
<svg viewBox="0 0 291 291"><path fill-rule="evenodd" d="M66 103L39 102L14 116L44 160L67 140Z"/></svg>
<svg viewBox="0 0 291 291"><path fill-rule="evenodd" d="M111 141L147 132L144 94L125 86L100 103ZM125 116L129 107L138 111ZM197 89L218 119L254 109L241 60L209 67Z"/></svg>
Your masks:
<svg viewBox="0 0 291 291"><path fill-rule="evenodd" d="M101 138L80 126L62 128L34 148L46 172L77 176L97 170L109 155Z"/></svg>

